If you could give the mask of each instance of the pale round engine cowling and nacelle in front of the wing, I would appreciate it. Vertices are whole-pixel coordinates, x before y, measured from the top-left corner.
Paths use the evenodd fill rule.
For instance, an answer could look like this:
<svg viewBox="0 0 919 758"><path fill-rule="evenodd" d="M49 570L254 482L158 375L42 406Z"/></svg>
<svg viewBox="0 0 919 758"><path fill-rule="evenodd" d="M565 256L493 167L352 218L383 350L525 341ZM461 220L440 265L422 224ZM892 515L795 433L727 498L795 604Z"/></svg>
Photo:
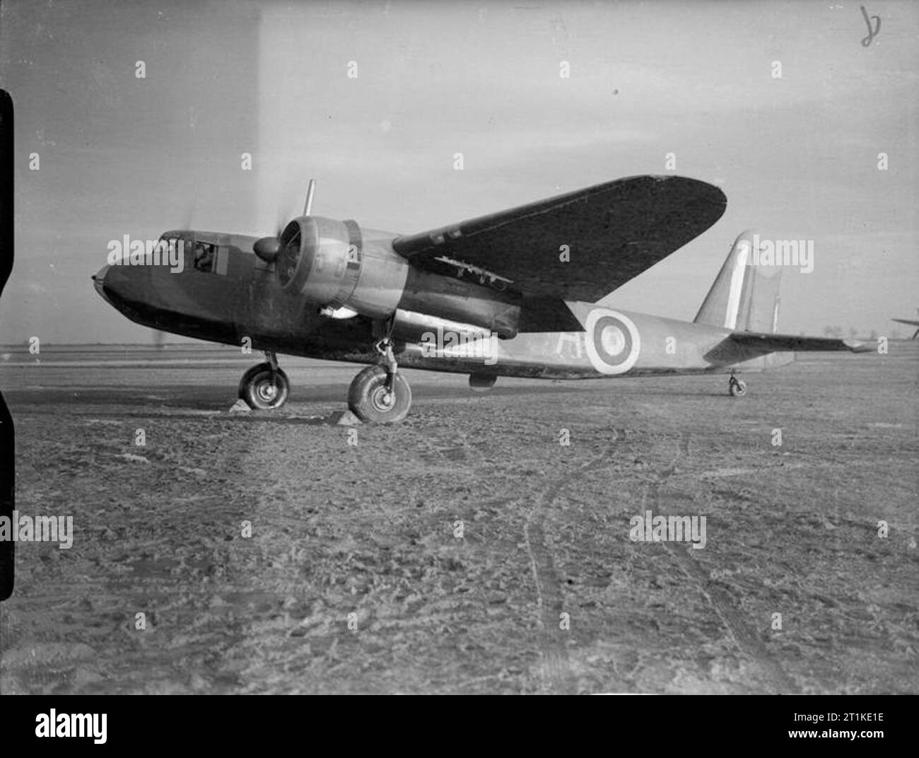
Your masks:
<svg viewBox="0 0 919 758"><path fill-rule="evenodd" d="M363 238L355 221L301 216L285 227L276 257L278 282L322 308L370 318L390 316L402 298L408 262L389 240Z"/></svg>

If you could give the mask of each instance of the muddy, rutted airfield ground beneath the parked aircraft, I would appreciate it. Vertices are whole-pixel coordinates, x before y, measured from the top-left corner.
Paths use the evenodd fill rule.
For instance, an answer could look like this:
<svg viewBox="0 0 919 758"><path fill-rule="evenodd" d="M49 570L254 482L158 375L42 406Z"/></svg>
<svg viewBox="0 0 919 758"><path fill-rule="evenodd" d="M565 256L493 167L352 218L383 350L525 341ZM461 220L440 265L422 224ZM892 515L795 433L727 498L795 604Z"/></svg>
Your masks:
<svg viewBox="0 0 919 758"><path fill-rule="evenodd" d="M17 546L0 691L919 692L919 343L890 349L743 399L407 372L356 446L315 418L356 367L287 360L285 408L231 415L230 348L6 356L17 509L74 545ZM705 548L630 541L647 510Z"/></svg>

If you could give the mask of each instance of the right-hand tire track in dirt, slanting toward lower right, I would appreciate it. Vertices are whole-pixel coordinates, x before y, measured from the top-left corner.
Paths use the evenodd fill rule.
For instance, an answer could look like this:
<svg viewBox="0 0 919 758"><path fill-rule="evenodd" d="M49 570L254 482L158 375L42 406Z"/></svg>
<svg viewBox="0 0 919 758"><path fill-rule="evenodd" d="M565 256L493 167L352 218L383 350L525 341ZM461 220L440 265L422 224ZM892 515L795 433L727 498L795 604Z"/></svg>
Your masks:
<svg viewBox="0 0 919 758"><path fill-rule="evenodd" d="M657 481L649 482L644 499L646 503L650 500L652 511L664 514L664 510L661 509L661 490L670 480L679 461L689 457L689 437L689 432L680 433L679 452L673 462L657 473ZM756 636L754 628L750 626L747 618L743 616L731 595L712 582L705 569L692 557L690 554L692 549L676 548L667 541L662 544L674 559L680 571L683 572L687 579L698 586L699 592L715 610L735 647L748 661L754 663L770 693L799 694L797 684L785 673L785 670L775 658L766 651L766 647Z"/></svg>

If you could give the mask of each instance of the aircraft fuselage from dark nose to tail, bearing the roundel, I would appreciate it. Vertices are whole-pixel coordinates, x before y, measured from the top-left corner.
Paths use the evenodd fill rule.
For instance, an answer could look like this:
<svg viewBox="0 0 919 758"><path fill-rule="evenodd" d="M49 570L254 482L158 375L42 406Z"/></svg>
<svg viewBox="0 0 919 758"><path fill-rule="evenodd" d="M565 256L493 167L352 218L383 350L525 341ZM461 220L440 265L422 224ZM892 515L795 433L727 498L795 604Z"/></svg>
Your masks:
<svg viewBox="0 0 919 758"><path fill-rule="evenodd" d="M153 329L278 354L377 363L373 320L335 318L322 304L278 286L276 264L254 238L166 232L185 242L185 266L107 266L96 289L131 321ZM387 232L363 232L363 255L394 255ZM196 255L196 244L198 254ZM202 245L207 255L201 255ZM595 303L528 300L501 282L405 266L399 280L395 354L406 368L471 375L589 379L723 370L762 354L739 348L731 330L612 310ZM564 311L564 312L560 312ZM461 334L463 324L482 330ZM455 329L451 324L459 324ZM561 326L561 328L559 328ZM771 363L778 355L770 356ZM787 362L788 358L782 362Z"/></svg>

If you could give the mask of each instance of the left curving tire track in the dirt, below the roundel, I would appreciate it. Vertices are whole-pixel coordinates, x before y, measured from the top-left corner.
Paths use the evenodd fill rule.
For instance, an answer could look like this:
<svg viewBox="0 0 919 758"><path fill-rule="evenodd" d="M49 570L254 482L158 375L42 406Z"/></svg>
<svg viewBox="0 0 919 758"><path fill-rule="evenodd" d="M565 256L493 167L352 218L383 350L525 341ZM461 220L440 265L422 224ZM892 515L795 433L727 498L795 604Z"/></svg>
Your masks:
<svg viewBox="0 0 919 758"><path fill-rule="evenodd" d="M600 470L612 465L618 444L626 438L625 429L613 429L613 442L604 448L596 458L588 460L576 470L564 474L552 482L539 495L536 505L530 510L524 525L524 541L530 561L530 569L536 583L537 605L539 606L539 626L542 628L542 667L540 691L543 694L575 694L577 681L571 670L568 649L565 639L570 632L563 631L559 624L564 611L562 583L555 570L552 550L546 544L545 519L550 506L573 480L581 477L586 471Z"/></svg>

